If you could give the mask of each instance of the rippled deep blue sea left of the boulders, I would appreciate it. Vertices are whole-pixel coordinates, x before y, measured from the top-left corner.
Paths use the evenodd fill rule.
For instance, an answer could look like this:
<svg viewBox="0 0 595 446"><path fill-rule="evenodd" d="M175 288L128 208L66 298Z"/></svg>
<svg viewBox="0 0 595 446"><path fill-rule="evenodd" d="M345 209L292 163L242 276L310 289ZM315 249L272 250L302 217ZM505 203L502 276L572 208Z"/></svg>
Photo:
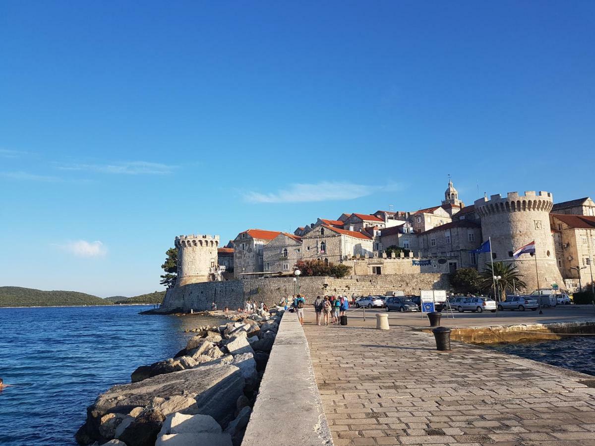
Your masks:
<svg viewBox="0 0 595 446"><path fill-rule="evenodd" d="M0 308L0 444L74 445L86 408L137 366L172 357L212 318L152 306Z"/></svg>

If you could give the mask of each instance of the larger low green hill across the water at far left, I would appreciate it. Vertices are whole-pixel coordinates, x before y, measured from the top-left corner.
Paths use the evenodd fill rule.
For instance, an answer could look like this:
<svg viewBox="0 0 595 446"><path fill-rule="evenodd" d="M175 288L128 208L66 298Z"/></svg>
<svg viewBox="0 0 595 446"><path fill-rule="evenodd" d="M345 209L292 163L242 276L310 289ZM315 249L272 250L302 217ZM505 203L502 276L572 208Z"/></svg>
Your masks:
<svg viewBox="0 0 595 446"><path fill-rule="evenodd" d="M0 287L0 307L49 307L107 305L109 301L77 291L43 291L34 288Z"/></svg>

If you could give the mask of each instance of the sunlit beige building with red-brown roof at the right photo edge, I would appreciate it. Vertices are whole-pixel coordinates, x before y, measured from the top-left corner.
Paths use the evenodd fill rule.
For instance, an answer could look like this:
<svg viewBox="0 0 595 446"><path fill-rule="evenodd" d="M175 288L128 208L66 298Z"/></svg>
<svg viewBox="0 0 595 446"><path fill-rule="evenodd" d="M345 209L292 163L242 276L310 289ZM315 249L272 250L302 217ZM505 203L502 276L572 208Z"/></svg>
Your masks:
<svg viewBox="0 0 595 446"><path fill-rule="evenodd" d="M556 257L566 288L574 289L579 284L584 288L595 274L595 216L551 213L550 222L552 230L559 234L561 255Z"/></svg>

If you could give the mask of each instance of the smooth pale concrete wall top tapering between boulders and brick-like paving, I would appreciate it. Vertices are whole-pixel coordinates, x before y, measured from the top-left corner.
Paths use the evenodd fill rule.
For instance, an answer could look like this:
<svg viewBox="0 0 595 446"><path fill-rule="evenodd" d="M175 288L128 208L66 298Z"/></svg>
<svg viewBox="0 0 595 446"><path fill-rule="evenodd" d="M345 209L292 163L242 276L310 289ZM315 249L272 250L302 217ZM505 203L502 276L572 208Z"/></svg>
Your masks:
<svg viewBox="0 0 595 446"><path fill-rule="evenodd" d="M331 446L308 341L295 313L284 312L242 446Z"/></svg>

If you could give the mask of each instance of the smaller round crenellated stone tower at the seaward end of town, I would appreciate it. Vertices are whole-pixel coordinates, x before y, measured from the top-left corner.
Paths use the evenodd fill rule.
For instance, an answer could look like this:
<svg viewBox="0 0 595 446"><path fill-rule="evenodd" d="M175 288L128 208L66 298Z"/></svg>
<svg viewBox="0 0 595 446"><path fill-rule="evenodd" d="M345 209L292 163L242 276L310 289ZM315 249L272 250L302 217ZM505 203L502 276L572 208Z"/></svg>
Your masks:
<svg viewBox="0 0 595 446"><path fill-rule="evenodd" d="M208 282L211 268L217 266L218 235L180 235L178 249L178 279L176 287Z"/></svg>

